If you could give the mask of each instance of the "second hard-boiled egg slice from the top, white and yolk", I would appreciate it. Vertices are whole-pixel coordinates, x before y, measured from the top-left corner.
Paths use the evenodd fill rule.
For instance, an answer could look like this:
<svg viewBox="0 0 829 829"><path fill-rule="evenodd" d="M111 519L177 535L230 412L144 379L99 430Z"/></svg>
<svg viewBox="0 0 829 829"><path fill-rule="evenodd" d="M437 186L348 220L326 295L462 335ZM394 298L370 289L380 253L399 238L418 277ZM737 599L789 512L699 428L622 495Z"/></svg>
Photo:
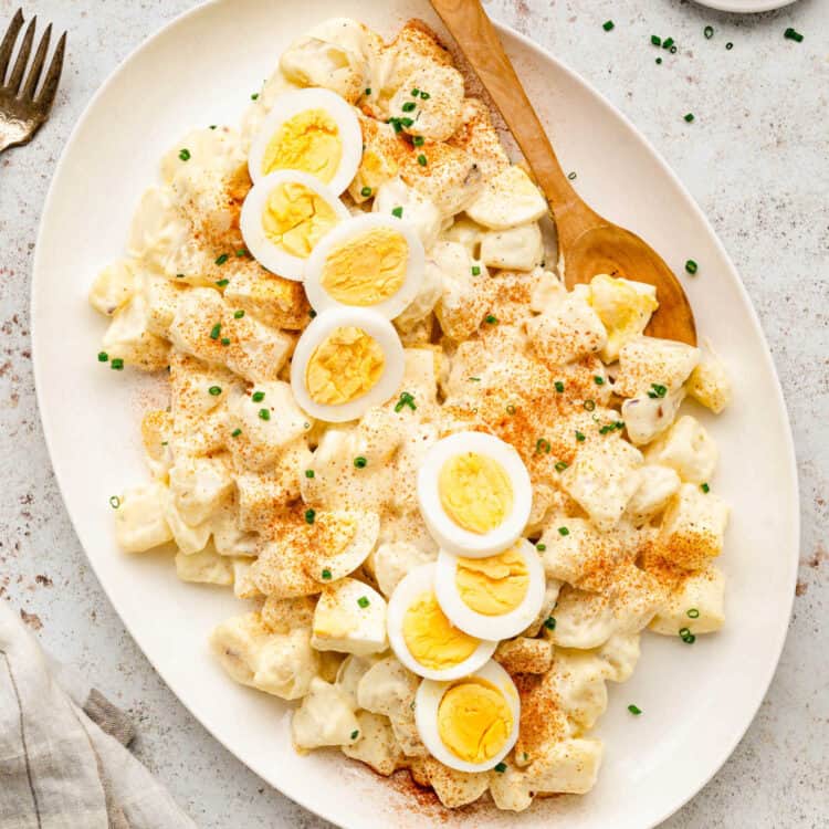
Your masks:
<svg viewBox="0 0 829 829"><path fill-rule="evenodd" d="M248 250L260 264L301 282L311 251L348 217L334 190L313 176L277 170L251 188L239 223Z"/></svg>

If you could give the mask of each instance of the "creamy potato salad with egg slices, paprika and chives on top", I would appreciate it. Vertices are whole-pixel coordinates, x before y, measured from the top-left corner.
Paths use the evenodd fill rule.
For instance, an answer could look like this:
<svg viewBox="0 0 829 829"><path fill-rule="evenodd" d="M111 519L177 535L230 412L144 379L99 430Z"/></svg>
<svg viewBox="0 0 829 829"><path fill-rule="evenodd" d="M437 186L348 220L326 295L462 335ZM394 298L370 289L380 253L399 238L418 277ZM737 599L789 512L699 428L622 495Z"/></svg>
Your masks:
<svg viewBox="0 0 829 829"><path fill-rule="evenodd" d="M91 290L98 370L169 387L117 542L234 591L204 636L293 703L297 751L447 807L585 794L642 633L723 625L693 414L728 403L723 364L644 334L634 274L566 290L545 199L421 22L328 20L252 98L162 158Z"/></svg>

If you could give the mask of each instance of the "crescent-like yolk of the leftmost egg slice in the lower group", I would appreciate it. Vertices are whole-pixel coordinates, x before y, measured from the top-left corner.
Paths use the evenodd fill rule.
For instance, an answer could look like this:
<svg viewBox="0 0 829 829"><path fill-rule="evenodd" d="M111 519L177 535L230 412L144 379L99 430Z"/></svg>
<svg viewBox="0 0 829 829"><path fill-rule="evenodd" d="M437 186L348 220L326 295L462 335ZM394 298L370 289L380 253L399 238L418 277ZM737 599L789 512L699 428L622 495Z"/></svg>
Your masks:
<svg viewBox="0 0 829 829"><path fill-rule="evenodd" d="M409 653L424 668L441 671L469 659L480 640L452 625L433 592L424 592L403 616L403 641Z"/></svg>

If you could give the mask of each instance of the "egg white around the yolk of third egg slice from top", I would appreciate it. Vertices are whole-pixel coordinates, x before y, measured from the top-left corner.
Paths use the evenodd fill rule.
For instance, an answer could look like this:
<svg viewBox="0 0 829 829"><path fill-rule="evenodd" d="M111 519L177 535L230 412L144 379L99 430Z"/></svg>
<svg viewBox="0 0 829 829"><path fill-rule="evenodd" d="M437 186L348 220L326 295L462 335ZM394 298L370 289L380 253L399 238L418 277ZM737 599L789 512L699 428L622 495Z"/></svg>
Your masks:
<svg viewBox="0 0 829 829"><path fill-rule="evenodd" d="M349 239L370 231L376 228L389 228L399 233L409 249L406 259L406 275L400 290L384 302L375 305L349 305L335 300L321 282L323 269L328 254L334 248L347 243ZM327 233L319 244L314 248L305 264L305 293L308 302L316 311L327 308L367 308L374 311L388 319L393 319L401 314L418 295L423 283L423 269L426 267L426 252L420 237L414 232L411 224L407 224L395 217L381 213L367 213L365 216L353 216L347 221L338 224L330 233Z"/></svg>

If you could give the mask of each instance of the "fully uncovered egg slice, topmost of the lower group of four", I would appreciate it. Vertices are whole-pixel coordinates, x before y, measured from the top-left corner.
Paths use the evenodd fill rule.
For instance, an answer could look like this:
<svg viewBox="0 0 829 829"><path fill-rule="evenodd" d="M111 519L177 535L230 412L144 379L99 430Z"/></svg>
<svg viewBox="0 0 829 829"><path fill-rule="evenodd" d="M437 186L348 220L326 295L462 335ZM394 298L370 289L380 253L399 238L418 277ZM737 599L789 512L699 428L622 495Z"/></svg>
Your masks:
<svg viewBox="0 0 829 829"><path fill-rule="evenodd" d="M508 443L484 432L438 441L418 471L418 501L436 541L482 558L515 543L529 518L529 473Z"/></svg>

